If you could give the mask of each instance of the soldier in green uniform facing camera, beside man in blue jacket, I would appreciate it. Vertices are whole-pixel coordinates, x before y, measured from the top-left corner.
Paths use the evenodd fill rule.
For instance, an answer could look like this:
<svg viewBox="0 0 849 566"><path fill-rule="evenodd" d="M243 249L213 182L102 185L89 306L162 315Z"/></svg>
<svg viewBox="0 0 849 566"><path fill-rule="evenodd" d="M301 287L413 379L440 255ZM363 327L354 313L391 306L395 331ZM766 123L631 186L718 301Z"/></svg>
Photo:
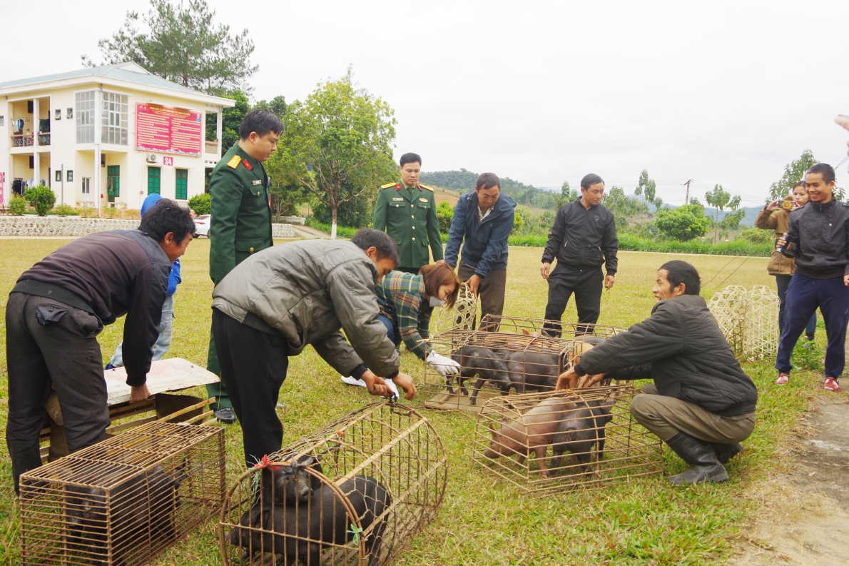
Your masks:
<svg viewBox="0 0 849 566"><path fill-rule="evenodd" d="M430 263L442 263L442 241L436 219L433 189L419 184L422 158L414 153L401 156L401 180L380 187L374 203L374 229L390 235L398 246L398 271L417 274ZM430 252L428 247L430 246Z"/></svg>

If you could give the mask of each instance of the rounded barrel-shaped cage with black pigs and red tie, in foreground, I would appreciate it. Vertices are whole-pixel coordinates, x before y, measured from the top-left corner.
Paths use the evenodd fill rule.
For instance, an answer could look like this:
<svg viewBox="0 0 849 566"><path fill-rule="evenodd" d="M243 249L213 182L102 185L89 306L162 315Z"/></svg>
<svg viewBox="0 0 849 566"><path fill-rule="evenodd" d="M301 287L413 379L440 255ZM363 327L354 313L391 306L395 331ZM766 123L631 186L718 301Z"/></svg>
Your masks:
<svg viewBox="0 0 849 566"><path fill-rule="evenodd" d="M224 499L223 562L391 563L436 517L447 455L430 422L389 402L267 456Z"/></svg>

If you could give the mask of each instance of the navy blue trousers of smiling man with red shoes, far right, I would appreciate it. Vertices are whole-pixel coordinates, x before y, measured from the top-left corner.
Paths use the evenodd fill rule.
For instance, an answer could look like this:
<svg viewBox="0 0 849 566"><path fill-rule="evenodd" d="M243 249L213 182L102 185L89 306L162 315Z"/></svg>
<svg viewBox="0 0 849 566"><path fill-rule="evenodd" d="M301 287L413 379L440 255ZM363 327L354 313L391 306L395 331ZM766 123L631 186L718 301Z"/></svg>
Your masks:
<svg viewBox="0 0 849 566"><path fill-rule="evenodd" d="M808 320L819 307L825 321L825 376L840 377L846 363L846 323L849 322L849 287L842 277L813 279L796 273L787 287L787 306L784 310L784 330L779 341L775 367L790 373L790 356Z"/></svg>

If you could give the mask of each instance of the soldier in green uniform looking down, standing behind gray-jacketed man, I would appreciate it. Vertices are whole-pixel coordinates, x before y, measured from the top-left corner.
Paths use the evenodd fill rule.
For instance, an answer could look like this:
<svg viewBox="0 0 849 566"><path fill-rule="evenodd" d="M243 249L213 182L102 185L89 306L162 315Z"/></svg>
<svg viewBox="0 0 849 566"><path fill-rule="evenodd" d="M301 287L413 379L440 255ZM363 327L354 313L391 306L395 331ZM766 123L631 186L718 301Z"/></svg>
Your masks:
<svg viewBox="0 0 849 566"><path fill-rule="evenodd" d="M218 161L210 178L210 277L215 285L252 253L273 246L270 180L262 165L277 150L284 126L266 110L253 110L239 126L239 141ZM215 342L210 334L206 369L221 376ZM236 421L223 383L206 386L221 422Z"/></svg>

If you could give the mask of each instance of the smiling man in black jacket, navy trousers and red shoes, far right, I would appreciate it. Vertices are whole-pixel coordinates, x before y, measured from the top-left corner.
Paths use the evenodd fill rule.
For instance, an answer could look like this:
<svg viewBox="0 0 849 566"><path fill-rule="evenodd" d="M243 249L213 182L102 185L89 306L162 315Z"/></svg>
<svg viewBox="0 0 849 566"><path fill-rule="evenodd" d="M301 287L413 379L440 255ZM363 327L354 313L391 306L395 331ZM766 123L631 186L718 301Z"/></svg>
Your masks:
<svg viewBox="0 0 849 566"><path fill-rule="evenodd" d="M796 273L787 286L784 330L781 331L779 371L776 385L790 380L790 356L811 315L823 314L825 336L825 384L840 391L837 379L846 363L846 323L849 322L849 204L836 201L835 170L818 163L805 175L811 201L790 212L787 241L779 238L785 255L796 256ZM786 244L786 245L785 245Z"/></svg>

